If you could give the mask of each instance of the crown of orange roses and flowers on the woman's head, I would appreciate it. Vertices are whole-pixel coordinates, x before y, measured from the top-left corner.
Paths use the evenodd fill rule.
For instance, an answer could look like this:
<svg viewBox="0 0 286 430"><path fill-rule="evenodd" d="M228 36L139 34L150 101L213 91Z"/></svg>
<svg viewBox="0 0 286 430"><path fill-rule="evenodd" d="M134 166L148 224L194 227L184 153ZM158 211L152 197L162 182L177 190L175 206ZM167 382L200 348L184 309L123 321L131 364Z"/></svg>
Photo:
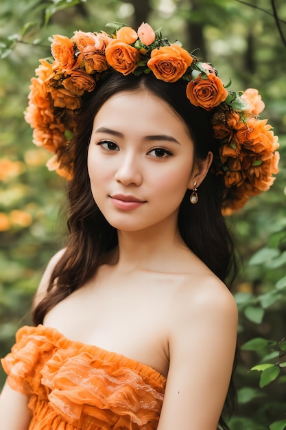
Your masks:
<svg viewBox="0 0 286 430"><path fill-rule="evenodd" d="M32 78L25 120L34 128L33 142L52 152L49 170L71 179L73 159L67 151L75 133L75 113L82 95L114 69L128 75L154 73L165 82L186 80L191 104L211 111L213 131L219 139L216 174L223 175L224 213L246 204L274 182L278 172L278 138L267 120L256 89L228 91L210 63L202 63L181 44L169 43L160 30L143 23L137 32L121 23L109 23L112 34L77 31L72 38L53 36L51 61L40 60L38 78Z"/></svg>

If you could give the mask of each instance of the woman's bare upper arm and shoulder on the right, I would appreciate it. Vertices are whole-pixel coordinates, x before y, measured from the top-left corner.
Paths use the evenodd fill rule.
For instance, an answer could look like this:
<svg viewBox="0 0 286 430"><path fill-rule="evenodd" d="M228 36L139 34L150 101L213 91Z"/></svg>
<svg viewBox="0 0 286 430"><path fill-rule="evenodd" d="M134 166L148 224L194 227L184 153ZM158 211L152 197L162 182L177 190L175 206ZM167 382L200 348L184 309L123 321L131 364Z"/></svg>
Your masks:
<svg viewBox="0 0 286 430"><path fill-rule="evenodd" d="M216 430L233 368L237 306L217 280L195 293L184 288L174 303L158 430Z"/></svg>

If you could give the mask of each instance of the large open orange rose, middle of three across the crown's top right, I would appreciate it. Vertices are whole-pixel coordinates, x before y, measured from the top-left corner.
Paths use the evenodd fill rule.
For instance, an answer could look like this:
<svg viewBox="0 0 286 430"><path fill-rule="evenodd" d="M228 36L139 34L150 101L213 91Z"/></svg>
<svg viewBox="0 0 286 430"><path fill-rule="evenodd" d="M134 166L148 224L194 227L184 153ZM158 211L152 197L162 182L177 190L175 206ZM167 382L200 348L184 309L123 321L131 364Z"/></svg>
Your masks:
<svg viewBox="0 0 286 430"><path fill-rule="evenodd" d="M193 58L189 52L173 43L171 46L153 49L147 66L157 79L176 82L182 78L192 61Z"/></svg>

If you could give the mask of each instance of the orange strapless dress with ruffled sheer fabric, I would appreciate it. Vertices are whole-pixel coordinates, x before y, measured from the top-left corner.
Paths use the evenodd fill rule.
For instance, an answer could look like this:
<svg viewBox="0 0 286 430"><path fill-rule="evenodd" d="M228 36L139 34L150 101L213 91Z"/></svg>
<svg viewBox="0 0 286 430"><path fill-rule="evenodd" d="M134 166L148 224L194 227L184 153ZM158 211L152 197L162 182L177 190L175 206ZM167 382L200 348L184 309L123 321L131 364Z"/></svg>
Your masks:
<svg viewBox="0 0 286 430"><path fill-rule="evenodd" d="M21 328L1 360L29 396L29 430L154 430L166 380L148 365L71 341L55 328Z"/></svg>

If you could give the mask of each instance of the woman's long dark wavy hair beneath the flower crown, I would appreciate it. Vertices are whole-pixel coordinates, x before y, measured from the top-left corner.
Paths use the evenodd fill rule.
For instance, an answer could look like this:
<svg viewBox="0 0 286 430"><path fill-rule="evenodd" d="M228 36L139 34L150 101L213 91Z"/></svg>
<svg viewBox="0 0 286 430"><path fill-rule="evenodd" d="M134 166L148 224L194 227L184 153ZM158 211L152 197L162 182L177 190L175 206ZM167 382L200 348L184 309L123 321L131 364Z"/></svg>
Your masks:
<svg viewBox="0 0 286 430"><path fill-rule="evenodd" d="M93 93L83 100L78 114L77 132L69 146L74 155L74 175L69 183L69 237L65 252L51 274L47 295L34 309L34 324L41 324L46 313L62 299L80 288L95 274L104 256L117 246L117 230L104 218L91 194L87 170L87 151L93 129L93 120L100 107L119 91L148 89L165 100L181 117L189 129L195 145L195 157L205 159L213 152L213 166L219 157L219 146L213 137L211 113L193 106L185 95L182 80L167 83L152 76L122 76L108 74L97 83ZM224 216L222 202L224 181L211 166L200 185L200 199L189 203L190 190L184 195L178 215L182 239L206 266L223 282L236 270L233 240ZM230 390L229 390L230 394ZM233 397L232 395L228 398ZM226 401L228 403L228 399ZM228 429L220 418L221 429Z"/></svg>

